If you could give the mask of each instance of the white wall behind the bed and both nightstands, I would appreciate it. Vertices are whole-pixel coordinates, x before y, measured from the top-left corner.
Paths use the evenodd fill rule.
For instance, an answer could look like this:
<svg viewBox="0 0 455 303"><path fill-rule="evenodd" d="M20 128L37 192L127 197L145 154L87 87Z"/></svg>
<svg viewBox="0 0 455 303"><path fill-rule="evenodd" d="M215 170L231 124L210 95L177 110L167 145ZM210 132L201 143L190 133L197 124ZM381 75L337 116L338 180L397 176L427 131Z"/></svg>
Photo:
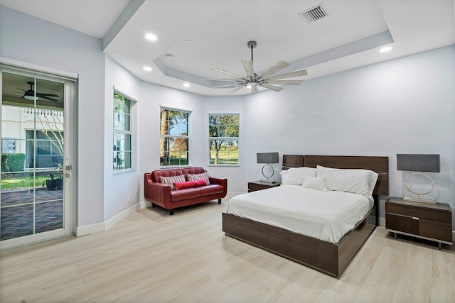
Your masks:
<svg viewBox="0 0 455 303"><path fill-rule="evenodd" d="M245 179L260 177L259 151L382 155L390 196L403 197L410 172L396 170L396 154L437 153L441 172L429 173L437 185L429 198L455 209L454 67L451 45L245 97ZM383 201L380 208L383 217Z"/></svg>

